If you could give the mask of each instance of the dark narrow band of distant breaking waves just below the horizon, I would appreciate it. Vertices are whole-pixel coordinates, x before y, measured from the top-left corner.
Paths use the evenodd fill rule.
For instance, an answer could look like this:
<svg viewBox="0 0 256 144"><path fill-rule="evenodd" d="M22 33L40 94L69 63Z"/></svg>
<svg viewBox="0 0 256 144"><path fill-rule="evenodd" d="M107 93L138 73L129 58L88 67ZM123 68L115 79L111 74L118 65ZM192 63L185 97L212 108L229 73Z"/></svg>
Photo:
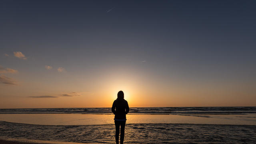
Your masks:
<svg viewBox="0 0 256 144"><path fill-rule="evenodd" d="M112 114L111 108L14 108L0 114ZM132 107L131 114L248 114L256 107Z"/></svg>

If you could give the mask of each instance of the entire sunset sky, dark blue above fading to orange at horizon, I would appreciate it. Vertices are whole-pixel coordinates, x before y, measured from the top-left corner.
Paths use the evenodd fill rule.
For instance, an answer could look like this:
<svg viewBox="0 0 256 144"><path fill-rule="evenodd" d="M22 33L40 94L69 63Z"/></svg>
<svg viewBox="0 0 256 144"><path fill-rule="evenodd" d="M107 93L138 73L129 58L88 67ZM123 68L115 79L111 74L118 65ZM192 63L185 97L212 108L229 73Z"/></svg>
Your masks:
<svg viewBox="0 0 256 144"><path fill-rule="evenodd" d="M0 108L256 106L254 0L1 0Z"/></svg>

